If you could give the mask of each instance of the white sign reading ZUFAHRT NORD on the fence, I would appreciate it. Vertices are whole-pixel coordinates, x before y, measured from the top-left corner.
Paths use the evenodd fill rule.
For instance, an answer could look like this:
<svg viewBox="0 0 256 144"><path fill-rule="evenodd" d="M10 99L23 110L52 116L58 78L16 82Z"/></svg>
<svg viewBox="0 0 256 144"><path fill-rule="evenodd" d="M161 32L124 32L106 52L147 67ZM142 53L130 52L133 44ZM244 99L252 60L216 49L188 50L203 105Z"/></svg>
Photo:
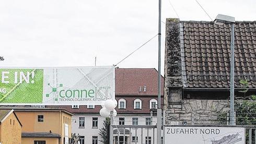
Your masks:
<svg viewBox="0 0 256 144"><path fill-rule="evenodd" d="M245 144L241 127L165 127L165 144Z"/></svg>

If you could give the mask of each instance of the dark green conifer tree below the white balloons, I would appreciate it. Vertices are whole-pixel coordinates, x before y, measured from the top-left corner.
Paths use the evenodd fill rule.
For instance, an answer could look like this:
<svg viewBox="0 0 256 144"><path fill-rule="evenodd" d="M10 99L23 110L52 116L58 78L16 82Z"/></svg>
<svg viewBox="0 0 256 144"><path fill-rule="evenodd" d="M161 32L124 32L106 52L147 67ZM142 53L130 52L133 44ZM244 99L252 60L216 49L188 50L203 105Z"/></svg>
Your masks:
<svg viewBox="0 0 256 144"><path fill-rule="evenodd" d="M109 144L109 129L110 129L110 118L107 117L106 121L103 122L103 127L100 129L99 135L102 140L99 140L103 144Z"/></svg>

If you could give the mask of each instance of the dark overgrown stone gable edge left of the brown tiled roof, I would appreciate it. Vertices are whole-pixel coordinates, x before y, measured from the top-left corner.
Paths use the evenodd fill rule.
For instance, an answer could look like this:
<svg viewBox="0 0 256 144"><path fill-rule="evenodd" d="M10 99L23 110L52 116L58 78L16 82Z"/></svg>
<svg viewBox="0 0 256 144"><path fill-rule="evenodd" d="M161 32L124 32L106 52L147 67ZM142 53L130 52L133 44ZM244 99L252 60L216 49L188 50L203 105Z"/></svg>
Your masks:
<svg viewBox="0 0 256 144"><path fill-rule="evenodd" d="M179 19L166 19L166 45L165 45L165 95L168 87L181 88L181 49L180 49ZM168 98L164 97L164 109L167 109Z"/></svg>

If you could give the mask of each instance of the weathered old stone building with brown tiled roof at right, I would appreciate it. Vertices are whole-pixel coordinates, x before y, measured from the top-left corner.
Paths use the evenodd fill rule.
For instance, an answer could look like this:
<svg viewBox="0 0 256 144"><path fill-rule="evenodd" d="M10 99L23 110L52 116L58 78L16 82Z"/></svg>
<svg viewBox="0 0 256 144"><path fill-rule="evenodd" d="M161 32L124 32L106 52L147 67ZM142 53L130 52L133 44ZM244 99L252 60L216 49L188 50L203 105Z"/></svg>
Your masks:
<svg viewBox="0 0 256 144"><path fill-rule="evenodd" d="M166 21L165 123L218 124L229 111L230 24ZM235 98L254 93L256 22L235 23Z"/></svg>

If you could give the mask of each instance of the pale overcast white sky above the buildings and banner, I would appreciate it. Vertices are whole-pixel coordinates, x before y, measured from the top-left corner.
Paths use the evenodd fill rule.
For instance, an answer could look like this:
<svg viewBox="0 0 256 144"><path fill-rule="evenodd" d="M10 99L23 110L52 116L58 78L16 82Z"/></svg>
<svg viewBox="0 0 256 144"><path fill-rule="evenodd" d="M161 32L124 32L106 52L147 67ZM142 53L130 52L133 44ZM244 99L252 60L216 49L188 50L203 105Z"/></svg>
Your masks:
<svg viewBox="0 0 256 144"><path fill-rule="evenodd" d="M0 66L52 67L117 64L158 33L157 0L1 0ZM253 0L198 2L217 14L239 21L256 20ZM162 21L211 19L195 0L162 0ZM161 65L164 70L165 24L162 23ZM120 68L158 67L157 37L125 59Z"/></svg>

